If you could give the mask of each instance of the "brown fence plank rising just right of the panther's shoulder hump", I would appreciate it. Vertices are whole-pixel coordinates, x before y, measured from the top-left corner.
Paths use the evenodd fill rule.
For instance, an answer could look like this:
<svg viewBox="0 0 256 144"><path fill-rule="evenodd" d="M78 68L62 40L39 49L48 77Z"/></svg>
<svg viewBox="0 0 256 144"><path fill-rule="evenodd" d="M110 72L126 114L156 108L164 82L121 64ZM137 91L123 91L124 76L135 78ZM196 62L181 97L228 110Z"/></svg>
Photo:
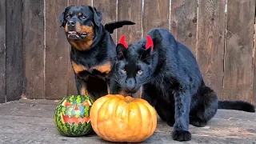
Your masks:
<svg viewBox="0 0 256 144"><path fill-rule="evenodd" d="M170 31L196 54L198 0L172 0Z"/></svg>

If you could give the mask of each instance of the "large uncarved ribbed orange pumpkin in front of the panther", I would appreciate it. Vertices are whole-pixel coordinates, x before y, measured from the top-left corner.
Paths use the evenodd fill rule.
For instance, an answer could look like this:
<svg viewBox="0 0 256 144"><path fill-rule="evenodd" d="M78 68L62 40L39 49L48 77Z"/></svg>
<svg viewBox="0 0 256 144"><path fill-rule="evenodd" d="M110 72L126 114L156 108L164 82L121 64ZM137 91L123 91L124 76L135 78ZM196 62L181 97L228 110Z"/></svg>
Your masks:
<svg viewBox="0 0 256 144"><path fill-rule="evenodd" d="M119 94L98 98L90 122L99 137L110 142L142 142L154 134L157 113L146 100Z"/></svg>

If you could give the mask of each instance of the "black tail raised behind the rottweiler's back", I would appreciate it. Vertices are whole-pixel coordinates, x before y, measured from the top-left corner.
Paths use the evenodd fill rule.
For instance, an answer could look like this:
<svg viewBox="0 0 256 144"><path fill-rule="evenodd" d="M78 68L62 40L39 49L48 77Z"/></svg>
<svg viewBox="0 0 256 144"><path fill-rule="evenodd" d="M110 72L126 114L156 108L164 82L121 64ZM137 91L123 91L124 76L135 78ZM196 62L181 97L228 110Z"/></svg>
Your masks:
<svg viewBox="0 0 256 144"><path fill-rule="evenodd" d="M110 32L110 34L113 34L114 29L117 29L125 25L134 25L134 24L135 22L131 22L131 21L117 21L117 22L106 23L104 27L108 32Z"/></svg>

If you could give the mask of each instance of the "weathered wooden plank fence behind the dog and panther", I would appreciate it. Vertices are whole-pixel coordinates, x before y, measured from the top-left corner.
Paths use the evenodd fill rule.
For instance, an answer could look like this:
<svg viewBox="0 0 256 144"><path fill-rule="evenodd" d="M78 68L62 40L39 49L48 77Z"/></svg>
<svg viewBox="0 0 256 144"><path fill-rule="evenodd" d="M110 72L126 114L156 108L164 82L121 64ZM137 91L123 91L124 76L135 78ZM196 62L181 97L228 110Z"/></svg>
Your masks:
<svg viewBox="0 0 256 144"><path fill-rule="evenodd" d="M135 42L169 29L194 52L220 99L256 104L255 0L1 0L0 102L76 94L70 45L58 15L70 5L102 10L102 23L129 19L112 34Z"/></svg>

